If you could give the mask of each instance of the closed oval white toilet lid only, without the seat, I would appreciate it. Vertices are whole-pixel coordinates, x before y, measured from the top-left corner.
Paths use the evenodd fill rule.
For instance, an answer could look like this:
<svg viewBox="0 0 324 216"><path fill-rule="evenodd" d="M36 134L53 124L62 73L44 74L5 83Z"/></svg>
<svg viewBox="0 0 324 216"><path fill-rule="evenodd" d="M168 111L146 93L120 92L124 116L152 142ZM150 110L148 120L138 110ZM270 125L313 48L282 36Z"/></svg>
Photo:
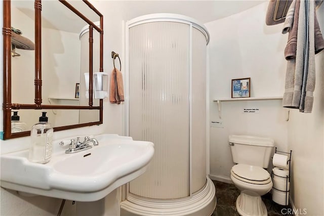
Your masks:
<svg viewBox="0 0 324 216"><path fill-rule="evenodd" d="M232 171L238 177L251 181L265 181L270 178L269 172L259 166L236 164L232 167Z"/></svg>

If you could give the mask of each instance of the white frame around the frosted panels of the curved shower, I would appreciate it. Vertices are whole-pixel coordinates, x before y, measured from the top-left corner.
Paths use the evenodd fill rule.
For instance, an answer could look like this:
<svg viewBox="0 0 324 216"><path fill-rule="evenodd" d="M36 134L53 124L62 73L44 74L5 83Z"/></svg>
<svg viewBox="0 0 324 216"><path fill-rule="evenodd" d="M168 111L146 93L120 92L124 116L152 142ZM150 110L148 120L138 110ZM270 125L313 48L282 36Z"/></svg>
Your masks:
<svg viewBox="0 0 324 216"><path fill-rule="evenodd" d="M163 18L161 18L163 17ZM137 18L134 18L130 21L127 21L125 23L125 42L124 42L124 47L125 47L125 56L126 56L126 63L125 63L125 85L124 85L124 90L125 90L125 121L124 121L124 135L125 136L130 136L129 135L129 29L131 27L134 27L136 25L144 24L144 23L149 23L149 22L180 22L189 25L189 196L192 197L193 195L199 193L201 190L203 190L208 184L208 181L206 182L205 186L201 188L200 190L196 192L192 192L192 28L196 28L199 31L201 31L207 38L207 51L208 51L208 44L209 44L209 39L210 35L208 33L208 30L205 26L199 24L198 21L195 19L192 19L187 16L183 15L178 15L178 14L149 14L149 15L144 15L140 16ZM207 52L207 72L206 72L206 174L209 176L210 174L210 166L209 166L209 146L210 146L210 132L209 132L209 55ZM124 201L127 199L129 196L129 183L124 185L121 190L121 201ZM177 200L181 199L187 199L188 197L184 198L179 198Z"/></svg>

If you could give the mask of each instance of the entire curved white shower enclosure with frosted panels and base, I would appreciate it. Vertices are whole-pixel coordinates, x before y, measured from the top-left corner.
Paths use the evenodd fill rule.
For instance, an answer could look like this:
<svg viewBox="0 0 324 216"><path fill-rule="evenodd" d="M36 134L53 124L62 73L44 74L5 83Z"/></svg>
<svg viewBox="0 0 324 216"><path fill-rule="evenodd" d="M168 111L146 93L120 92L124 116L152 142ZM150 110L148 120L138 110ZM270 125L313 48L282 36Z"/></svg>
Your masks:
<svg viewBox="0 0 324 216"><path fill-rule="evenodd" d="M128 185L121 215L210 215L207 177L209 33L195 20L152 14L128 21L128 134L154 143L147 171Z"/></svg>

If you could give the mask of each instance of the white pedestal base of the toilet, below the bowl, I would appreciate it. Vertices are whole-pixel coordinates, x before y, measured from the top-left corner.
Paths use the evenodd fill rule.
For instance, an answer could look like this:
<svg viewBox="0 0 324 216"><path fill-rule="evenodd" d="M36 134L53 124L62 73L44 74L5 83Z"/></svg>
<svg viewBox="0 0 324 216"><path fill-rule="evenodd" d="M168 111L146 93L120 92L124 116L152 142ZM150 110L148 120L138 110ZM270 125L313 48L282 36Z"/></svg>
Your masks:
<svg viewBox="0 0 324 216"><path fill-rule="evenodd" d="M251 196L241 192L236 199L236 210L242 216L267 216L267 208L261 196Z"/></svg>

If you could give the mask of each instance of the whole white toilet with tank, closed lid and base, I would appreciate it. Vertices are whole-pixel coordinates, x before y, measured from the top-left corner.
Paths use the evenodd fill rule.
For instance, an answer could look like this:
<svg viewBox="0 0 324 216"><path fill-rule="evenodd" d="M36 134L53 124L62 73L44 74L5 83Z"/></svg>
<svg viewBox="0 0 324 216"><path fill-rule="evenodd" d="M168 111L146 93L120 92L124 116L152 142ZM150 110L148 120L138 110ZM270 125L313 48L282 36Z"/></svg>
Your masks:
<svg viewBox="0 0 324 216"><path fill-rule="evenodd" d="M233 184L241 191L236 199L240 215L268 215L261 196L272 188L267 168L274 141L270 138L252 136L229 136L233 162L231 169Z"/></svg>

